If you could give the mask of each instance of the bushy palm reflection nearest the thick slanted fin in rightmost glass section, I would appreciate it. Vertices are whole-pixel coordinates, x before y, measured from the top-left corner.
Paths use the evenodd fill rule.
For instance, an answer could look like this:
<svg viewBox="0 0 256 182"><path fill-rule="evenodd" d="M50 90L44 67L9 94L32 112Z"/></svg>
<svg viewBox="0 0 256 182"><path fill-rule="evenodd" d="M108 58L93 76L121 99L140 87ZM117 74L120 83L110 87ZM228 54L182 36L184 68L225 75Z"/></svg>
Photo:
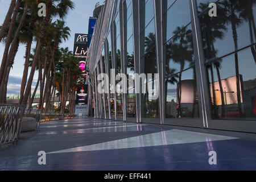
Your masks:
<svg viewBox="0 0 256 182"><path fill-rule="evenodd" d="M205 9L208 9L209 3L200 3L199 9L203 12ZM200 12L199 12L200 14ZM210 18L208 12L203 13L200 15L200 22L201 22L201 32L203 34L203 47L205 57L207 59L214 59L217 54L217 50L214 47L214 42L217 39L222 40L225 37L224 31L227 30L225 23L225 17L222 17L224 14L224 9L218 7L218 17ZM214 67L217 71L218 77L218 84L220 86L221 91L221 115L222 117L225 116L225 102L224 102L224 92L222 88L221 76L220 76L220 69L221 69L221 60L213 63ZM214 116L217 118L218 111L216 106L216 96L215 96L215 88L214 88L214 77L213 77L213 65L210 65L210 73L212 77L212 93L213 93L213 109L214 109Z"/></svg>

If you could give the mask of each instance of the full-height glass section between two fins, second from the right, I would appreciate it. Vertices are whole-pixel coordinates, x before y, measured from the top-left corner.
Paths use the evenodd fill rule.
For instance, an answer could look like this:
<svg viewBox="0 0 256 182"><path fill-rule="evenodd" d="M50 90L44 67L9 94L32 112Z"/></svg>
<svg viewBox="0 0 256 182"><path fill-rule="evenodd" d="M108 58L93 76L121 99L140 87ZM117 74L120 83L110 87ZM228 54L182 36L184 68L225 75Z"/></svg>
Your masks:
<svg viewBox="0 0 256 182"><path fill-rule="evenodd" d="M165 118L199 118L189 0L166 1L165 7Z"/></svg>

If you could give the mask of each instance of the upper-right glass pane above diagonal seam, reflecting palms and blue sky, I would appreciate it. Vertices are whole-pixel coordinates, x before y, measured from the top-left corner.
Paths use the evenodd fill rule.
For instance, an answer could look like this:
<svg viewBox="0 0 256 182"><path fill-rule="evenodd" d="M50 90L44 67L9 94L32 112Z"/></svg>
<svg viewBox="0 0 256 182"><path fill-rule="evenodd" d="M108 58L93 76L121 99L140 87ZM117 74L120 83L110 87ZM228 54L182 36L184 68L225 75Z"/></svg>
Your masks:
<svg viewBox="0 0 256 182"><path fill-rule="evenodd" d="M198 2L199 3L199 2ZM207 2L198 5L199 14ZM205 61L215 60L256 42L256 4L252 1L218 1L217 17L200 14ZM253 51L254 54L255 50Z"/></svg>

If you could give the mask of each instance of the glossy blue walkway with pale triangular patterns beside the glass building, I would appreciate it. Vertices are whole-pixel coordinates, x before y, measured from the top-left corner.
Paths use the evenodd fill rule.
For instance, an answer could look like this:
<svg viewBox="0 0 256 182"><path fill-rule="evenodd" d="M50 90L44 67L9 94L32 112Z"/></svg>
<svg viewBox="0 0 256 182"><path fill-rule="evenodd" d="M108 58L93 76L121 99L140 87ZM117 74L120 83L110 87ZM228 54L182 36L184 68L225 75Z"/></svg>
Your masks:
<svg viewBox="0 0 256 182"><path fill-rule="evenodd" d="M46 165L39 165L39 151ZM217 164L209 164L209 152ZM67 119L0 149L0 170L256 170L256 141L160 125Z"/></svg>

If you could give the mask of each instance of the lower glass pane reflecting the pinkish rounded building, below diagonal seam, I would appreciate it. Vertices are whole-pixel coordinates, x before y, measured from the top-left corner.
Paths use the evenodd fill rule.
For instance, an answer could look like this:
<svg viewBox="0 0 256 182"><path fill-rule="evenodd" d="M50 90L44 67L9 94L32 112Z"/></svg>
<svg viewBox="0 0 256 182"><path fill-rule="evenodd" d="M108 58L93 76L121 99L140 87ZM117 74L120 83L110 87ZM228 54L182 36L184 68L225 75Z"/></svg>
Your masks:
<svg viewBox="0 0 256 182"><path fill-rule="evenodd" d="M195 68L164 79L166 118L199 118Z"/></svg>

